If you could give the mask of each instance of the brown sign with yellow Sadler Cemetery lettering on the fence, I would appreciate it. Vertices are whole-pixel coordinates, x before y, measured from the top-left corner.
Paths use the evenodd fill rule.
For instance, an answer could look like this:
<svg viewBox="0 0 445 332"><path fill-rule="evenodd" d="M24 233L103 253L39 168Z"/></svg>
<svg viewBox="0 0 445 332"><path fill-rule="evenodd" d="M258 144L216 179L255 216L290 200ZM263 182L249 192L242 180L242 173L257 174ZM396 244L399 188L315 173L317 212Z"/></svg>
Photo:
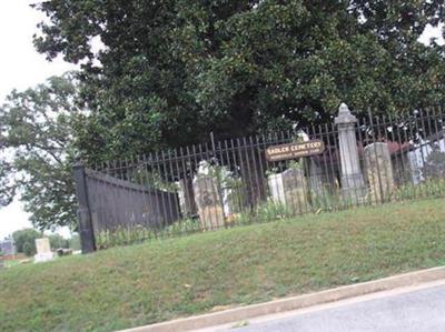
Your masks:
<svg viewBox="0 0 445 332"><path fill-rule="evenodd" d="M266 149L266 159L269 161L295 159L320 154L324 150L325 143L322 140L273 145Z"/></svg>

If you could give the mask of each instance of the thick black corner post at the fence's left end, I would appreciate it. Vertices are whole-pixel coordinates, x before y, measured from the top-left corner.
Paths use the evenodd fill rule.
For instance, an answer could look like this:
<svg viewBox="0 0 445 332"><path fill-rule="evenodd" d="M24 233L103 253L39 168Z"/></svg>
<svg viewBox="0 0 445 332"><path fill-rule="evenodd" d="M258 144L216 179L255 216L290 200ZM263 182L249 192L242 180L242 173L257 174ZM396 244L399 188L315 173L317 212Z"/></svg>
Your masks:
<svg viewBox="0 0 445 332"><path fill-rule="evenodd" d="M91 211L88 203L88 189L82 161L76 161L72 168L76 197L78 202L77 217L79 220L79 235L82 253L96 251L95 233L92 230Z"/></svg>

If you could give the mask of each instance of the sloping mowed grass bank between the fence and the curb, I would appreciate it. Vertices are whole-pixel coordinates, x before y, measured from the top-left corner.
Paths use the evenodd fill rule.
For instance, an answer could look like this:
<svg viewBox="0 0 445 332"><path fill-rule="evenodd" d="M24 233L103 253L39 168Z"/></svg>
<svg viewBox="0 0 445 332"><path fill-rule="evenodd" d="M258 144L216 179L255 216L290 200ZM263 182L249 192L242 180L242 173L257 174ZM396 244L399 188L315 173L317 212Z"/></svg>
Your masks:
<svg viewBox="0 0 445 332"><path fill-rule="evenodd" d="M111 331L445 263L445 201L411 201L0 271L0 331Z"/></svg>

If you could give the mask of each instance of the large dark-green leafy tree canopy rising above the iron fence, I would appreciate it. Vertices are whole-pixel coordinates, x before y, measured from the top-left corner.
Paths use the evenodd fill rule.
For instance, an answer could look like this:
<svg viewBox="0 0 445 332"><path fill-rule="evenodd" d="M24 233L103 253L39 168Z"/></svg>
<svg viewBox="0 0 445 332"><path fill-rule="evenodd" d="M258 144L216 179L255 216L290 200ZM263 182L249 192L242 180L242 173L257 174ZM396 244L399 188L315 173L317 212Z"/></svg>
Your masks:
<svg viewBox="0 0 445 332"><path fill-rule="evenodd" d="M51 0L34 43L82 61L87 157L177 147L444 101L444 1ZM100 40L102 48L92 44ZM99 64L96 64L99 62ZM97 153L96 153L97 158Z"/></svg>

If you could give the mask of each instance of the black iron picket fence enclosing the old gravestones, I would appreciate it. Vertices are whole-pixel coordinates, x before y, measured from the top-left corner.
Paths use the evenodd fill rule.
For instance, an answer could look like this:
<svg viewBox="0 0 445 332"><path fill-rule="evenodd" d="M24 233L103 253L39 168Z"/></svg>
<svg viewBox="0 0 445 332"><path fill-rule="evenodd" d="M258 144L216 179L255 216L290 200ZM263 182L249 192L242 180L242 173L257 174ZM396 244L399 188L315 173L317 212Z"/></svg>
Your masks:
<svg viewBox="0 0 445 332"><path fill-rule="evenodd" d="M348 118L349 119L349 118ZM214 141L75 168L83 251L445 193L441 108ZM334 120L334 119L333 119ZM349 132L348 132L349 131ZM352 131L352 134L350 134ZM310 157L269 147L320 140ZM353 141L352 141L353 140Z"/></svg>

